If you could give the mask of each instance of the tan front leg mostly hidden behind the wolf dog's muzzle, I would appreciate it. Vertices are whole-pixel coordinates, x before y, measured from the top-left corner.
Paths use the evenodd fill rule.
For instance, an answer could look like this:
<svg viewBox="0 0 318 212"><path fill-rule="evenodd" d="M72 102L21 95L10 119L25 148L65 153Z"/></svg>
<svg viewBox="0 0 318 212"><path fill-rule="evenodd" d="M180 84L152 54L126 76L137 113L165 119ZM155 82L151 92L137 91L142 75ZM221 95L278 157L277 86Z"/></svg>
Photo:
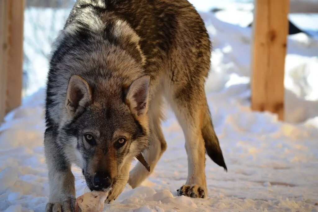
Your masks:
<svg viewBox="0 0 318 212"><path fill-rule="evenodd" d="M131 161L130 161L130 163L131 163ZM117 199L117 197L124 190L124 188L128 182L128 178L129 178L130 163L127 163L127 162L124 163L120 172L118 172L118 175L116 176L113 188L109 192L107 199L105 201L106 203L113 202L115 199Z"/></svg>

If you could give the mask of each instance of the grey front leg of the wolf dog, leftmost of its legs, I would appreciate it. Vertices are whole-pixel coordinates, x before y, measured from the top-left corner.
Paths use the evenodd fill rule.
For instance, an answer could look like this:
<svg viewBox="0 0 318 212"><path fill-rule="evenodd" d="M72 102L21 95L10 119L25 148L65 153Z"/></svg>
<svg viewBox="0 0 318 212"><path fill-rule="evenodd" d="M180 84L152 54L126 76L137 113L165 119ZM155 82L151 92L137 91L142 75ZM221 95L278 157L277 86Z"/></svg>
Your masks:
<svg viewBox="0 0 318 212"><path fill-rule="evenodd" d="M71 164L61 153L52 131L45 131L44 146L50 187L49 202L45 211L74 211L75 179Z"/></svg>

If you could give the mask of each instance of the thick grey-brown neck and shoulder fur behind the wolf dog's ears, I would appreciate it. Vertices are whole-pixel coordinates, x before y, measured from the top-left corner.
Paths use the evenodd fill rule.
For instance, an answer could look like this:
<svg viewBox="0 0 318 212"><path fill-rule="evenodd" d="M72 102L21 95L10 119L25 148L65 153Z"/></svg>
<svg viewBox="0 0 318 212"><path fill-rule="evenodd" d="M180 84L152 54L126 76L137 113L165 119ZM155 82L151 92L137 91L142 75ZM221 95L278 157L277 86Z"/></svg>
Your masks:
<svg viewBox="0 0 318 212"><path fill-rule="evenodd" d="M144 74L145 57L139 36L127 22L93 4L104 1L89 2L78 1L74 5L55 41L46 98L47 107L52 107L46 114L48 123L59 122L68 80L73 74L92 87L105 88L114 81L127 88Z"/></svg>

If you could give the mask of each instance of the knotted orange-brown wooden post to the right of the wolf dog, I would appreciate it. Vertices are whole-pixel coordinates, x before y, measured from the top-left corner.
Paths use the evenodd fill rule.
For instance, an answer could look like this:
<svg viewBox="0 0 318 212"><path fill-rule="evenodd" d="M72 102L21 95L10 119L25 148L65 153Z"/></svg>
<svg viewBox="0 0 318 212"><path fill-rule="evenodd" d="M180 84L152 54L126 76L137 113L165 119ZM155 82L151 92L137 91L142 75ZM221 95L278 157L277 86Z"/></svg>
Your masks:
<svg viewBox="0 0 318 212"><path fill-rule="evenodd" d="M284 119L284 70L289 0L255 0L252 44L252 109Z"/></svg>

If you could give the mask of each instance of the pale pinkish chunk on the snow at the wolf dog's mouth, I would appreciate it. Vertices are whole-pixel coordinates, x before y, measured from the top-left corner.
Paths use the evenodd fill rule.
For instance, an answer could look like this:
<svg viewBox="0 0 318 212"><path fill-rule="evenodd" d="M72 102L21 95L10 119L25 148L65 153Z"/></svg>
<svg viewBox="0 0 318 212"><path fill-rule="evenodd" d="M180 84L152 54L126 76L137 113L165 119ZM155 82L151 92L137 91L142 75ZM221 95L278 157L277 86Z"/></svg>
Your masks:
<svg viewBox="0 0 318 212"><path fill-rule="evenodd" d="M108 192L92 191L76 198L75 212L101 212Z"/></svg>

